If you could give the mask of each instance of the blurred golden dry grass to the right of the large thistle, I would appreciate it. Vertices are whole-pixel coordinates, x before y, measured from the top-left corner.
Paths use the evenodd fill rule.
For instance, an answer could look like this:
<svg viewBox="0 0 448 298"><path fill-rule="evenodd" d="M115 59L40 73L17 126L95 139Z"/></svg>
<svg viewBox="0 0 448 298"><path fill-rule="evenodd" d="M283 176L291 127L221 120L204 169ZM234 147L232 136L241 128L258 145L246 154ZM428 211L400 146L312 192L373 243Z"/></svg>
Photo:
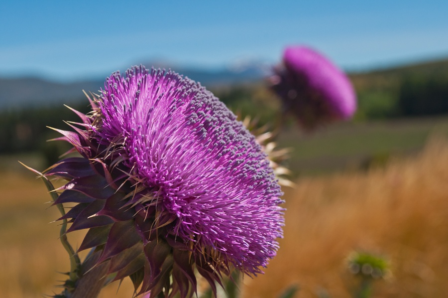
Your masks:
<svg viewBox="0 0 448 298"><path fill-rule="evenodd" d="M266 274L245 279L244 297L271 298L292 284L298 297L349 297L352 250L388 256L393 275L373 297L448 293L448 143L366 173L302 178L287 189L285 238Z"/></svg>

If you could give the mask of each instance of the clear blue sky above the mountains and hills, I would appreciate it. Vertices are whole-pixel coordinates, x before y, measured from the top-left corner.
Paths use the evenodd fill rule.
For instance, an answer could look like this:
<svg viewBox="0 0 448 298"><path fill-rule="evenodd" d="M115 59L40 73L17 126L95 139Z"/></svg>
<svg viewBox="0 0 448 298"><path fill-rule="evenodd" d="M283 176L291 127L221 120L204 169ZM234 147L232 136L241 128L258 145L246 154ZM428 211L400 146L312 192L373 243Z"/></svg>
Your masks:
<svg viewBox="0 0 448 298"><path fill-rule="evenodd" d="M345 69L384 67L448 57L447 12L447 0L1 1L0 76L103 78L160 59L277 63L290 44Z"/></svg>

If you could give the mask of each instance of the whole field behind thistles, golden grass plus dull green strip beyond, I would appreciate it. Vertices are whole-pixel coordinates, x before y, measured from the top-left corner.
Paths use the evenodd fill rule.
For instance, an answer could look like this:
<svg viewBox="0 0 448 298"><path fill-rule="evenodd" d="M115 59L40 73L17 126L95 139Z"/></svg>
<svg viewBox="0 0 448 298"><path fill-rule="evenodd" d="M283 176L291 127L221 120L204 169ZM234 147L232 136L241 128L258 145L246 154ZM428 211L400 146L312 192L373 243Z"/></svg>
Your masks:
<svg viewBox="0 0 448 298"><path fill-rule="evenodd" d="M294 148L291 168L297 173L296 188L284 189L285 238L266 274L244 279L244 297L275 297L294 284L301 288L298 297L347 297L356 280L344 262L355 249L382 254L392 264L392 275L377 282L374 297L444 297L447 133L444 117L342 124L315 135L282 133L280 143ZM50 197L43 183L15 161L40 167L39 156L0 159L3 297L57 293L55 281L64 279L58 272L68 270L58 224L50 223L57 209L45 204ZM77 246L82 233L70 239ZM130 297L127 280L117 287L112 284L101 297Z"/></svg>

